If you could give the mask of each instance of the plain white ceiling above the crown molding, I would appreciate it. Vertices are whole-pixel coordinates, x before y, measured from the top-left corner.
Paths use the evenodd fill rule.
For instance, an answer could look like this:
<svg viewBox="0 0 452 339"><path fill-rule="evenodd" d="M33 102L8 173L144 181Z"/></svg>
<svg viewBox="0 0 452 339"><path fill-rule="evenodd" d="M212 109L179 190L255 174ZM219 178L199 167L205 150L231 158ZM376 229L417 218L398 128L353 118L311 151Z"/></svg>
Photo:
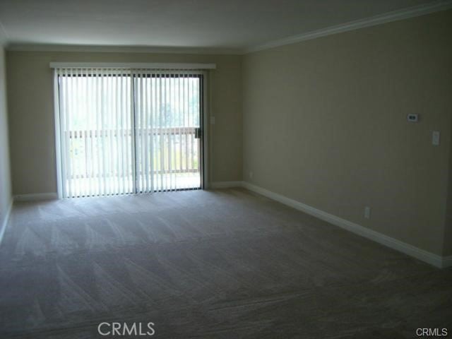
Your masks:
<svg viewBox="0 0 452 339"><path fill-rule="evenodd" d="M249 49L429 0L0 0L9 44Z"/></svg>

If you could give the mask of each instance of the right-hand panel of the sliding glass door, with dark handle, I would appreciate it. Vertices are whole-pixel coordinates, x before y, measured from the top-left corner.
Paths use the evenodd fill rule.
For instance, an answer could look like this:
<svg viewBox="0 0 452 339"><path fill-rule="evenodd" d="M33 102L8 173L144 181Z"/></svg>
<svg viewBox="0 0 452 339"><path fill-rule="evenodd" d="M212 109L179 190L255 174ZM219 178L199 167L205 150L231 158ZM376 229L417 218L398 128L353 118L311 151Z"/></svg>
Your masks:
<svg viewBox="0 0 452 339"><path fill-rule="evenodd" d="M138 74L136 191L201 187L201 76Z"/></svg>

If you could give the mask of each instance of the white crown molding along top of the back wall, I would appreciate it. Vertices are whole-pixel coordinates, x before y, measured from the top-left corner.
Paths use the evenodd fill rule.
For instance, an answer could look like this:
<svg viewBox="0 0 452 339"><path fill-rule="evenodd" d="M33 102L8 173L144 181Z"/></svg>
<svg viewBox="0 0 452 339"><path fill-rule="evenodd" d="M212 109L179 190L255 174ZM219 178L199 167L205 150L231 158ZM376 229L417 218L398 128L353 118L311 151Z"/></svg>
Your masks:
<svg viewBox="0 0 452 339"><path fill-rule="evenodd" d="M8 51L20 52L112 52L112 53L160 53L160 54L243 54L242 49L208 47L145 47L145 46L92 46L72 44L14 44Z"/></svg>

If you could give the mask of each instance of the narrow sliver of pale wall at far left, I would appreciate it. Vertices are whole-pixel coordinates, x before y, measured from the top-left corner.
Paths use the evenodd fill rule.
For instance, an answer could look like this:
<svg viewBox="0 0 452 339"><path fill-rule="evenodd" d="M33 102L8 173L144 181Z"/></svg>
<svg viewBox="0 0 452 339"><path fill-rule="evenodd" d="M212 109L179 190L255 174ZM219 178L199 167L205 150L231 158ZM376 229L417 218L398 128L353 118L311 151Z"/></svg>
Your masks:
<svg viewBox="0 0 452 339"><path fill-rule="evenodd" d="M11 172L8 146L8 114L6 113L6 107L5 52L0 41L0 227L11 205Z"/></svg>

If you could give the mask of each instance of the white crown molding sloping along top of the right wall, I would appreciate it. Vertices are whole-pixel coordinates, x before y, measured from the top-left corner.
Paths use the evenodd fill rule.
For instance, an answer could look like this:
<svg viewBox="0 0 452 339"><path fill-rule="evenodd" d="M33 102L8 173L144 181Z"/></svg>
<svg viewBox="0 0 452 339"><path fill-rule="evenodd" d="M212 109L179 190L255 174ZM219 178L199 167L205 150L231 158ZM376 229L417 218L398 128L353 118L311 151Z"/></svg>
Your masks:
<svg viewBox="0 0 452 339"><path fill-rule="evenodd" d="M302 42L305 40L316 39L317 37L325 37L327 35L348 32L350 30L358 30L359 28L381 25L382 23L390 23L391 21L415 18L416 16L424 16L429 13L445 11L450 8L452 8L452 0L435 1L430 4L422 4L420 6L400 9L398 11L392 11L380 14L378 16L371 16L369 18L354 20L348 23L341 23L340 25L321 28L320 30L313 30L311 32L292 35L283 39L273 40L264 44L256 45L254 47L249 47L245 49L244 54L262 51L263 49L284 46L285 44L295 44L296 42Z"/></svg>

